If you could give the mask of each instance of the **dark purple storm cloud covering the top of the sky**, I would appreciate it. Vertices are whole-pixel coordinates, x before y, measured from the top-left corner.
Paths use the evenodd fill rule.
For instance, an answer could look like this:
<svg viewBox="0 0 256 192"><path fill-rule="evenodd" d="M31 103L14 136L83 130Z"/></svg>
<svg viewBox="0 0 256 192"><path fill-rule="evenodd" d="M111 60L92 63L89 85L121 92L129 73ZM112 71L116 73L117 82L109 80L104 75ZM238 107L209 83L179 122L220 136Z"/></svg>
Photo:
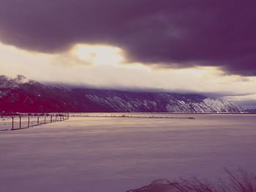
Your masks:
<svg viewBox="0 0 256 192"><path fill-rule="evenodd" d="M110 44L129 61L256 75L255 10L250 0L0 0L0 40L46 53Z"/></svg>

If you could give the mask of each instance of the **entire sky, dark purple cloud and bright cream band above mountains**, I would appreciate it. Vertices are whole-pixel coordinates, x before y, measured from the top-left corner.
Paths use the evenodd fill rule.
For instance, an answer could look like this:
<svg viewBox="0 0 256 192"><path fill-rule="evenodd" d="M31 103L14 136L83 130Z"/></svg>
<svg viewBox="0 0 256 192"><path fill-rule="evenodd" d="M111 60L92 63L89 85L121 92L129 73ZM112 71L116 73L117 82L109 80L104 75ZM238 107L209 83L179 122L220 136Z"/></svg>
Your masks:
<svg viewBox="0 0 256 192"><path fill-rule="evenodd" d="M256 106L256 1L0 0L0 72Z"/></svg>

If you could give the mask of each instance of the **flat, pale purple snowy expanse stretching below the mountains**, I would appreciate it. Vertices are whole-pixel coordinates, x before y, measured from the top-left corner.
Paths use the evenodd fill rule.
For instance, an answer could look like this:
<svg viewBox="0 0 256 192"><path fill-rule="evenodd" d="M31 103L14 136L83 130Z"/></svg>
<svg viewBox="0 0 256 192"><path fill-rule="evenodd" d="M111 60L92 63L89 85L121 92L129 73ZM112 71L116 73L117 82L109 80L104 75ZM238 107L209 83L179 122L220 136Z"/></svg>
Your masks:
<svg viewBox="0 0 256 192"><path fill-rule="evenodd" d="M256 115L135 115L0 131L1 191L122 192L224 167L256 173Z"/></svg>

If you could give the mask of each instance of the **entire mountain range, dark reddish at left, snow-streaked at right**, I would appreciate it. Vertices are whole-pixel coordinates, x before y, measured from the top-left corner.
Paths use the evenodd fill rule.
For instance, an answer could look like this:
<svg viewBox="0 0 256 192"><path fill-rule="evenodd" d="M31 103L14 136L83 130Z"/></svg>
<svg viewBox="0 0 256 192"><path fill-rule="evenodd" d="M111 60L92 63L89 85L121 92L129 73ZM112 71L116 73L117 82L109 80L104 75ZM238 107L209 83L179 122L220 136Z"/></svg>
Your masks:
<svg viewBox="0 0 256 192"><path fill-rule="evenodd" d="M18 75L0 76L0 112L192 112L240 113L221 98L199 94L62 88Z"/></svg>

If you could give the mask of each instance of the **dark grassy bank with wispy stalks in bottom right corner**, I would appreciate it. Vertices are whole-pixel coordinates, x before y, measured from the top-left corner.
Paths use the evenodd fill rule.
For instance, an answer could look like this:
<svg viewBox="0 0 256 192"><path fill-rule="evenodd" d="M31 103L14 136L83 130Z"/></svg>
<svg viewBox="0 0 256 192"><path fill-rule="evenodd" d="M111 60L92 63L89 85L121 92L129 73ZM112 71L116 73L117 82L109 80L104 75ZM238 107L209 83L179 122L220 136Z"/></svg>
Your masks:
<svg viewBox="0 0 256 192"><path fill-rule="evenodd" d="M215 182L200 180L197 177L191 180L180 178L175 182L160 179L150 185L127 192L256 192L256 175L239 169L230 172L225 169L227 179L217 178Z"/></svg>

